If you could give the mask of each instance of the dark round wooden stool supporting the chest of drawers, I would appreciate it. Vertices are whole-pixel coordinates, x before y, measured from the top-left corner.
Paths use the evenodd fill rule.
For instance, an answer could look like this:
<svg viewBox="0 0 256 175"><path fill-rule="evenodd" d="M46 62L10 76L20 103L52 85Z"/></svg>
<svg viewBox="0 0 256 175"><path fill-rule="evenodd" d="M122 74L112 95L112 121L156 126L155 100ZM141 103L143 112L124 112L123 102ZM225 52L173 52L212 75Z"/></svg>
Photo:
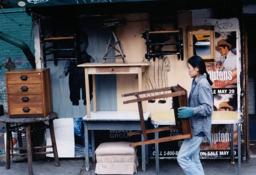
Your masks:
<svg viewBox="0 0 256 175"><path fill-rule="evenodd" d="M31 115L31 114L30 114ZM10 159L11 155L27 155L27 162L28 162L28 172L29 175L33 175L33 167L32 167L32 155L35 159L35 154L54 154L55 165L60 166L57 146L55 141L54 135L54 126L53 120L57 118L58 114L56 112L51 112L46 117L30 117L30 118L8 118L8 114L3 115L0 117L0 121L6 123L6 169L10 169ZM33 125L38 122L49 121L49 125L44 124L41 128L34 128ZM12 126L11 124L19 123L18 126ZM15 130L14 128L25 126L25 131L22 130ZM52 140L52 146L37 146L31 145L31 137L35 132L40 131L41 129L50 129L50 135ZM10 148L11 144L11 132L23 132L26 133L26 148ZM44 148L53 148L51 152L35 152L35 149L44 149ZM12 154L10 153L11 150L27 150L27 153L22 154Z"/></svg>

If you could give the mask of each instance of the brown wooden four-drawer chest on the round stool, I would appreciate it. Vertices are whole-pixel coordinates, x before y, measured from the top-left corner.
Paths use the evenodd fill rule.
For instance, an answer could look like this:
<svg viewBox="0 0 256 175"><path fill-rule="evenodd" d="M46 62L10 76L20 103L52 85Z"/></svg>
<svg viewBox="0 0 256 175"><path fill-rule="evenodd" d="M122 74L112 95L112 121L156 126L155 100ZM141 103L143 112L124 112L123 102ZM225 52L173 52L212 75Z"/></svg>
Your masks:
<svg viewBox="0 0 256 175"><path fill-rule="evenodd" d="M50 69L5 73L9 118L46 117L52 111Z"/></svg>

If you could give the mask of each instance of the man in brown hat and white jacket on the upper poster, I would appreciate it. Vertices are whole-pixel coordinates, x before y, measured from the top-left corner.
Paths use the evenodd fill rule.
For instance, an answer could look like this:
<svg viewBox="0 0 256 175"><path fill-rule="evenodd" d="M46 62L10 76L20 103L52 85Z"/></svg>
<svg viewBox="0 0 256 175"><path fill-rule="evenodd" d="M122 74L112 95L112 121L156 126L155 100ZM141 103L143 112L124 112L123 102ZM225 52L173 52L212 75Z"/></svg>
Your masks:
<svg viewBox="0 0 256 175"><path fill-rule="evenodd" d="M217 43L216 50L221 54L220 63L222 63L222 71L232 71L236 69L236 55L230 51L231 48L232 45L224 39ZM216 68L221 67L220 63L216 64Z"/></svg>

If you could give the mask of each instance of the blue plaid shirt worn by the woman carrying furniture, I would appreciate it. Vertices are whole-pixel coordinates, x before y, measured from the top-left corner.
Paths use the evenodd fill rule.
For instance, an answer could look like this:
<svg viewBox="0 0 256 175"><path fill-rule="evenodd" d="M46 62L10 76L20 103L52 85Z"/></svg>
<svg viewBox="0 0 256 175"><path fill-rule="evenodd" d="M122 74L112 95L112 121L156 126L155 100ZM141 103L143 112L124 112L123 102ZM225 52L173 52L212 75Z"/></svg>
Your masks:
<svg viewBox="0 0 256 175"><path fill-rule="evenodd" d="M209 144L211 144L213 95L212 87L205 75L193 79L188 104L189 107L193 108L194 112L193 116L191 116L193 136L202 131L209 140Z"/></svg>

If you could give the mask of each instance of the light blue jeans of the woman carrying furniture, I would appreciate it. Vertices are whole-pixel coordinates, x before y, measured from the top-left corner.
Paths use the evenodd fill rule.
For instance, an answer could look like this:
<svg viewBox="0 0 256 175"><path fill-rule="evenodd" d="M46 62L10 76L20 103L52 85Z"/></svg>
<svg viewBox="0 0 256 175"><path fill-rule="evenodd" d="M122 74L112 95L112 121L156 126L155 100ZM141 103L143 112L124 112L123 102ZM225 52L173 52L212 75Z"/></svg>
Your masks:
<svg viewBox="0 0 256 175"><path fill-rule="evenodd" d="M204 133L200 132L193 139L185 139L180 147L177 160L186 175L204 175L199 159L200 144L204 137Z"/></svg>

